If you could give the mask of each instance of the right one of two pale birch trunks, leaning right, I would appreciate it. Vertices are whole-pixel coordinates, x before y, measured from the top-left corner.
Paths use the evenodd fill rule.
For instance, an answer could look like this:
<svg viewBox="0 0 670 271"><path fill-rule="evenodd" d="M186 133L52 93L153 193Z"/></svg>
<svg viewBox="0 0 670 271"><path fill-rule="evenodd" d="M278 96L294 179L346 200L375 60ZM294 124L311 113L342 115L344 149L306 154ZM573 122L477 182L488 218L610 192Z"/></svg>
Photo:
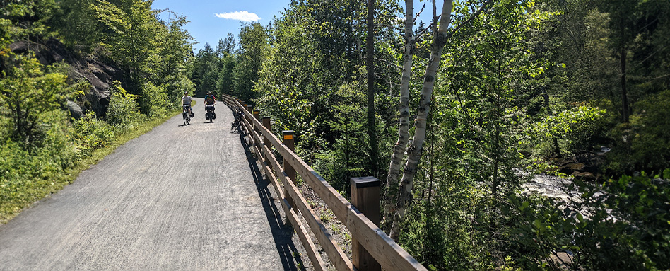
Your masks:
<svg viewBox="0 0 670 271"><path fill-rule="evenodd" d="M430 59L428 60L428 67L425 69L423 76L423 87L421 88L421 98L417 110L416 121L414 122L415 132L413 141L407 147L407 163L405 164L404 173L400 182L400 190L398 200L396 202L396 214L394 215L393 224L391 226L390 237L394 240L398 239L400 233L400 224L405 217L407 205L412 194L412 186L414 175L416 174L416 166L421 160L421 153L423 151L423 141L425 139L426 117L430 111L430 102L433 98L433 88L435 86L435 75L437 74L437 67L440 66L440 57L442 57L442 48L447 44L447 32L449 23L451 23L451 11L453 1L445 0L442 6L442 15L440 18L440 25L437 27L437 33L433 40L433 46L430 50Z"/></svg>

